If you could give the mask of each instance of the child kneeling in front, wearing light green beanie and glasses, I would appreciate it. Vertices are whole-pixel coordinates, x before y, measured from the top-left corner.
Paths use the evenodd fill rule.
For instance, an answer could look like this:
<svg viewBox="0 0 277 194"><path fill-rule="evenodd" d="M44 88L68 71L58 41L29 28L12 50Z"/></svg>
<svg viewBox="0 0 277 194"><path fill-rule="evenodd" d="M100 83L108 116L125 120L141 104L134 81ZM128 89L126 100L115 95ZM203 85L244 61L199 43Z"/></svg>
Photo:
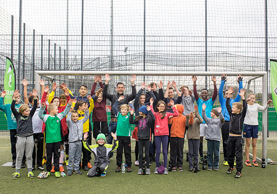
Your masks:
<svg viewBox="0 0 277 194"><path fill-rule="evenodd" d="M105 177L110 163L110 153L118 147L118 140L116 140L115 134L111 132L113 145L106 144L106 136L103 133L99 133L96 138L97 144L90 146L87 142L88 136L88 132L85 132L83 145L87 150L93 153L95 158L94 165L90 169L88 177L100 176L100 174L101 177ZM99 169L99 172L97 172L97 169Z"/></svg>

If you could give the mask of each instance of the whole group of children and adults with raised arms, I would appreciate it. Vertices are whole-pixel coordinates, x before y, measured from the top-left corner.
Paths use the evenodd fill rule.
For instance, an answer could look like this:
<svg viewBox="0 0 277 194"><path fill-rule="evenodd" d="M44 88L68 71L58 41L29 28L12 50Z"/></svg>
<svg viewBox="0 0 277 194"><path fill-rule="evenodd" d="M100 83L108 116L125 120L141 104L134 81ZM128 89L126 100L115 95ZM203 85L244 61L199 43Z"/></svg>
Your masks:
<svg viewBox="0 0 277 194"><path fill-rule="evenodd" d="M169 81L166 92L163 92L163 82L157 85L151 82L142 83L139 92L136 92L135 79L130 79L131 94L124 94L125 85L118 82L116 94L108 92L109 74L105 75L105 84L101 76L94 77L91 95L86 96L88 87L81 85L80 96L74 97L65 83L58 85L63 91L60 97L55 96L56 83L53 84L52 92L44 86L40 80L41 100L37 96L37 90L27 97L28 82L23 80L24 104L19 104L20 95L18 90L14 92L11 104L3 105L6 92L1 93L0 110L7 115L8 129L10 129L13 164L16 168L13 179L20 175L20 168L24 167L26 158L28 177L35 178L35 159L37 168L44 170L42 161L46 153L46 172L41 172L38 178L47 178L51 172L55 177L66 176L63 162L66 161L67 175L72 173L81 175L80 168L89 170L88 177L106 176L110 158L116 151L115 172L122 170L123 150L125 154L127 172L131 172L131 137L136 140L135 165L139 166L138 175L143 173L143 156L145 154L146 171L150 174L151 161L156 162L154 174L168 174L167 154L170 144L171 171L183 172L183 149L185 133L188 140L188 170L192 171L203 160L203 138L207 140L207 170L219 170L220 142L222 130L222 143L224 165L229 165L227 174L234 170L236 156L237 173L235 178L240 178L242 169L242 138L246 139L245 155L247 166L249 161L249 146L252 137L253 165L258 166L257 137L258 137L258 112L265 110L272 102L268 100L264 107L255 103L255 94L249 94L245 99L245 90L242 88L242 76L238 76L239 93L231 99L234 92L230 87L223 94L223 87L227 75L222 75L219 89L219 101L221 107L213 108L217 97L216 78L212 98L208 98L208 90L201 91L201 98L197 92L197 77L193 76L193 93L185 85L178 90L175 81ZM100 89L95 92L99 83ZM159 92L157 92L157 86ZM144 90L147 88L147 92ZM174 90L177 98L174 97ZM240 98L242 103L240 103ZM106 113L106 101L111 101L111 120L108 125ZM134 100L134 104L130 103ZM194 106L195 101L197 107ZM248 102L248 105L247 105ZM129 104L130 103L130 104ZM90 123L92 113L93 130ZM135 114L135 118L134 118ZM244 126L243 126L244 123ZM130 125L135 129L131 133ZM92 132L93 131L93 132ZM92 145L92 136L96 139L96 145ZM112 144L113 140L113 145ZM107 142L107 144L106 144ZM34 146L35 145L35 146ZM45 145L45 146L44 146ZM161 145L163 146L163 170L160 170ZM46 151L44 150L46 148ZM64 147L66 159L64 159ZM37 151L36 151L37 150ZM37 156L36 156L37 153ZM94 155L94 165L90 163L91 153ZM199 154L200 153L200 160ZM81 157L82 156L82 157ZM82 161L81 161L82 158Z"/></svg>

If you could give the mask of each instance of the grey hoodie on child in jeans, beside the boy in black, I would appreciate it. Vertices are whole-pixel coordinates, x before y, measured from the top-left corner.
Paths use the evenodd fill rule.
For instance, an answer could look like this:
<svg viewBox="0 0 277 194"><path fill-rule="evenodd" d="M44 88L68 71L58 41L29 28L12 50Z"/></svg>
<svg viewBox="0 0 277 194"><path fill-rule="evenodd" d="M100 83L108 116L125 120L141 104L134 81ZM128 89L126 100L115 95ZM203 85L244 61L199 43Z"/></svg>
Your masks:
<svg viewBox="0 0 277 194"><path fill-rule="evenodd" d="M202 111L202 117L206 124L208 125L206 129L206 140L215 140L220 142L221 140L221 133L220 129L224 123L224 117L222 113L219 113L219 118L208 118L205 114L205 111Z"/></svg>

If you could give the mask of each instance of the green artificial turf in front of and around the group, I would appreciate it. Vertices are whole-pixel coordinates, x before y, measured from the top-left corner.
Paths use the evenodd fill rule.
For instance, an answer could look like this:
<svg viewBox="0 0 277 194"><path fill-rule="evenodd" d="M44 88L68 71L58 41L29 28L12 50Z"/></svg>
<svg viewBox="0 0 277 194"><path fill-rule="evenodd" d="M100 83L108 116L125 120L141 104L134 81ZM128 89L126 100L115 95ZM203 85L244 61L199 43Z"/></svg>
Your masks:
<svg viewBox="0 0 277 194"><path fill-rule="evenodd" d="M186 140L185 140L186 141ZM259 140L260 141L260 140ZM268 158L276 159L275 145L277 140L268 141ZM261 144L258 143L260 151ZM6 137L0 137L0 165L11 162L10 141ZM116 155L116 153L115 153ZM161 154L162 158L162 154ZM169 158L169 156L168 156ZM82 175L55 178L54 173L46 179L27 178L27 168L20 170L20 177L12 179L14 168L0 166L0 185L2 194L100 194L100 193L202 193L202 194L264 194L275 193L277 188L277 165L268 164L265 169L248 167L243 164L242 177L234 178L235 171L231 175L226 174L227 166L222 165L221 154L220 170L193 173L188 171L188 162L185 162L184 172L169 172L168 175L155 175L155 163L150 166L151 175L137 175L137 166L132 166L131 173L116 173L116 158L111 158L106 177L88 178L86 172ZM245 159L244 159L245 160ZM132 162L134 153L132 153ZM45 167L45 165L44 165ZM202 165L200 164L202 168ZM39 170L34 170L37 177ZM67 170L66 170L67 172Z"/></svg>

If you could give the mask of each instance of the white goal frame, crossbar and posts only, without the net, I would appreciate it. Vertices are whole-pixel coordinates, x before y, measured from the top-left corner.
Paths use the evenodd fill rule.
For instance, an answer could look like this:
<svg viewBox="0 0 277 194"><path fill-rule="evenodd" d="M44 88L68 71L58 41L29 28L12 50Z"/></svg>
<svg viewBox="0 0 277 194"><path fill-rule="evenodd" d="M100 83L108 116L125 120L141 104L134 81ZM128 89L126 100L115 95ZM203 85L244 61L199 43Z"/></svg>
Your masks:
<svg viewBox="0 0 277 194"><path fill-rule="evenodd" d="M114 76L221 76L222 74L226 74L228 77L235 77L237 75L241 75L244 77L251 77L250 81L261 78L262 82L262 104L266 104L268 100L268 73L266 71L35 71L35 85L37 91L39 89L39 79L40 77L47 77L49 79L53 79L50 76L94 76L94 75L105 75L110 74ZM171 78L171 77L170 77ZM247 86L249 90L249 86ZM262 112L262 157L267 159L267 110ZM257 157L257 161L261 162Z"/></svg>

